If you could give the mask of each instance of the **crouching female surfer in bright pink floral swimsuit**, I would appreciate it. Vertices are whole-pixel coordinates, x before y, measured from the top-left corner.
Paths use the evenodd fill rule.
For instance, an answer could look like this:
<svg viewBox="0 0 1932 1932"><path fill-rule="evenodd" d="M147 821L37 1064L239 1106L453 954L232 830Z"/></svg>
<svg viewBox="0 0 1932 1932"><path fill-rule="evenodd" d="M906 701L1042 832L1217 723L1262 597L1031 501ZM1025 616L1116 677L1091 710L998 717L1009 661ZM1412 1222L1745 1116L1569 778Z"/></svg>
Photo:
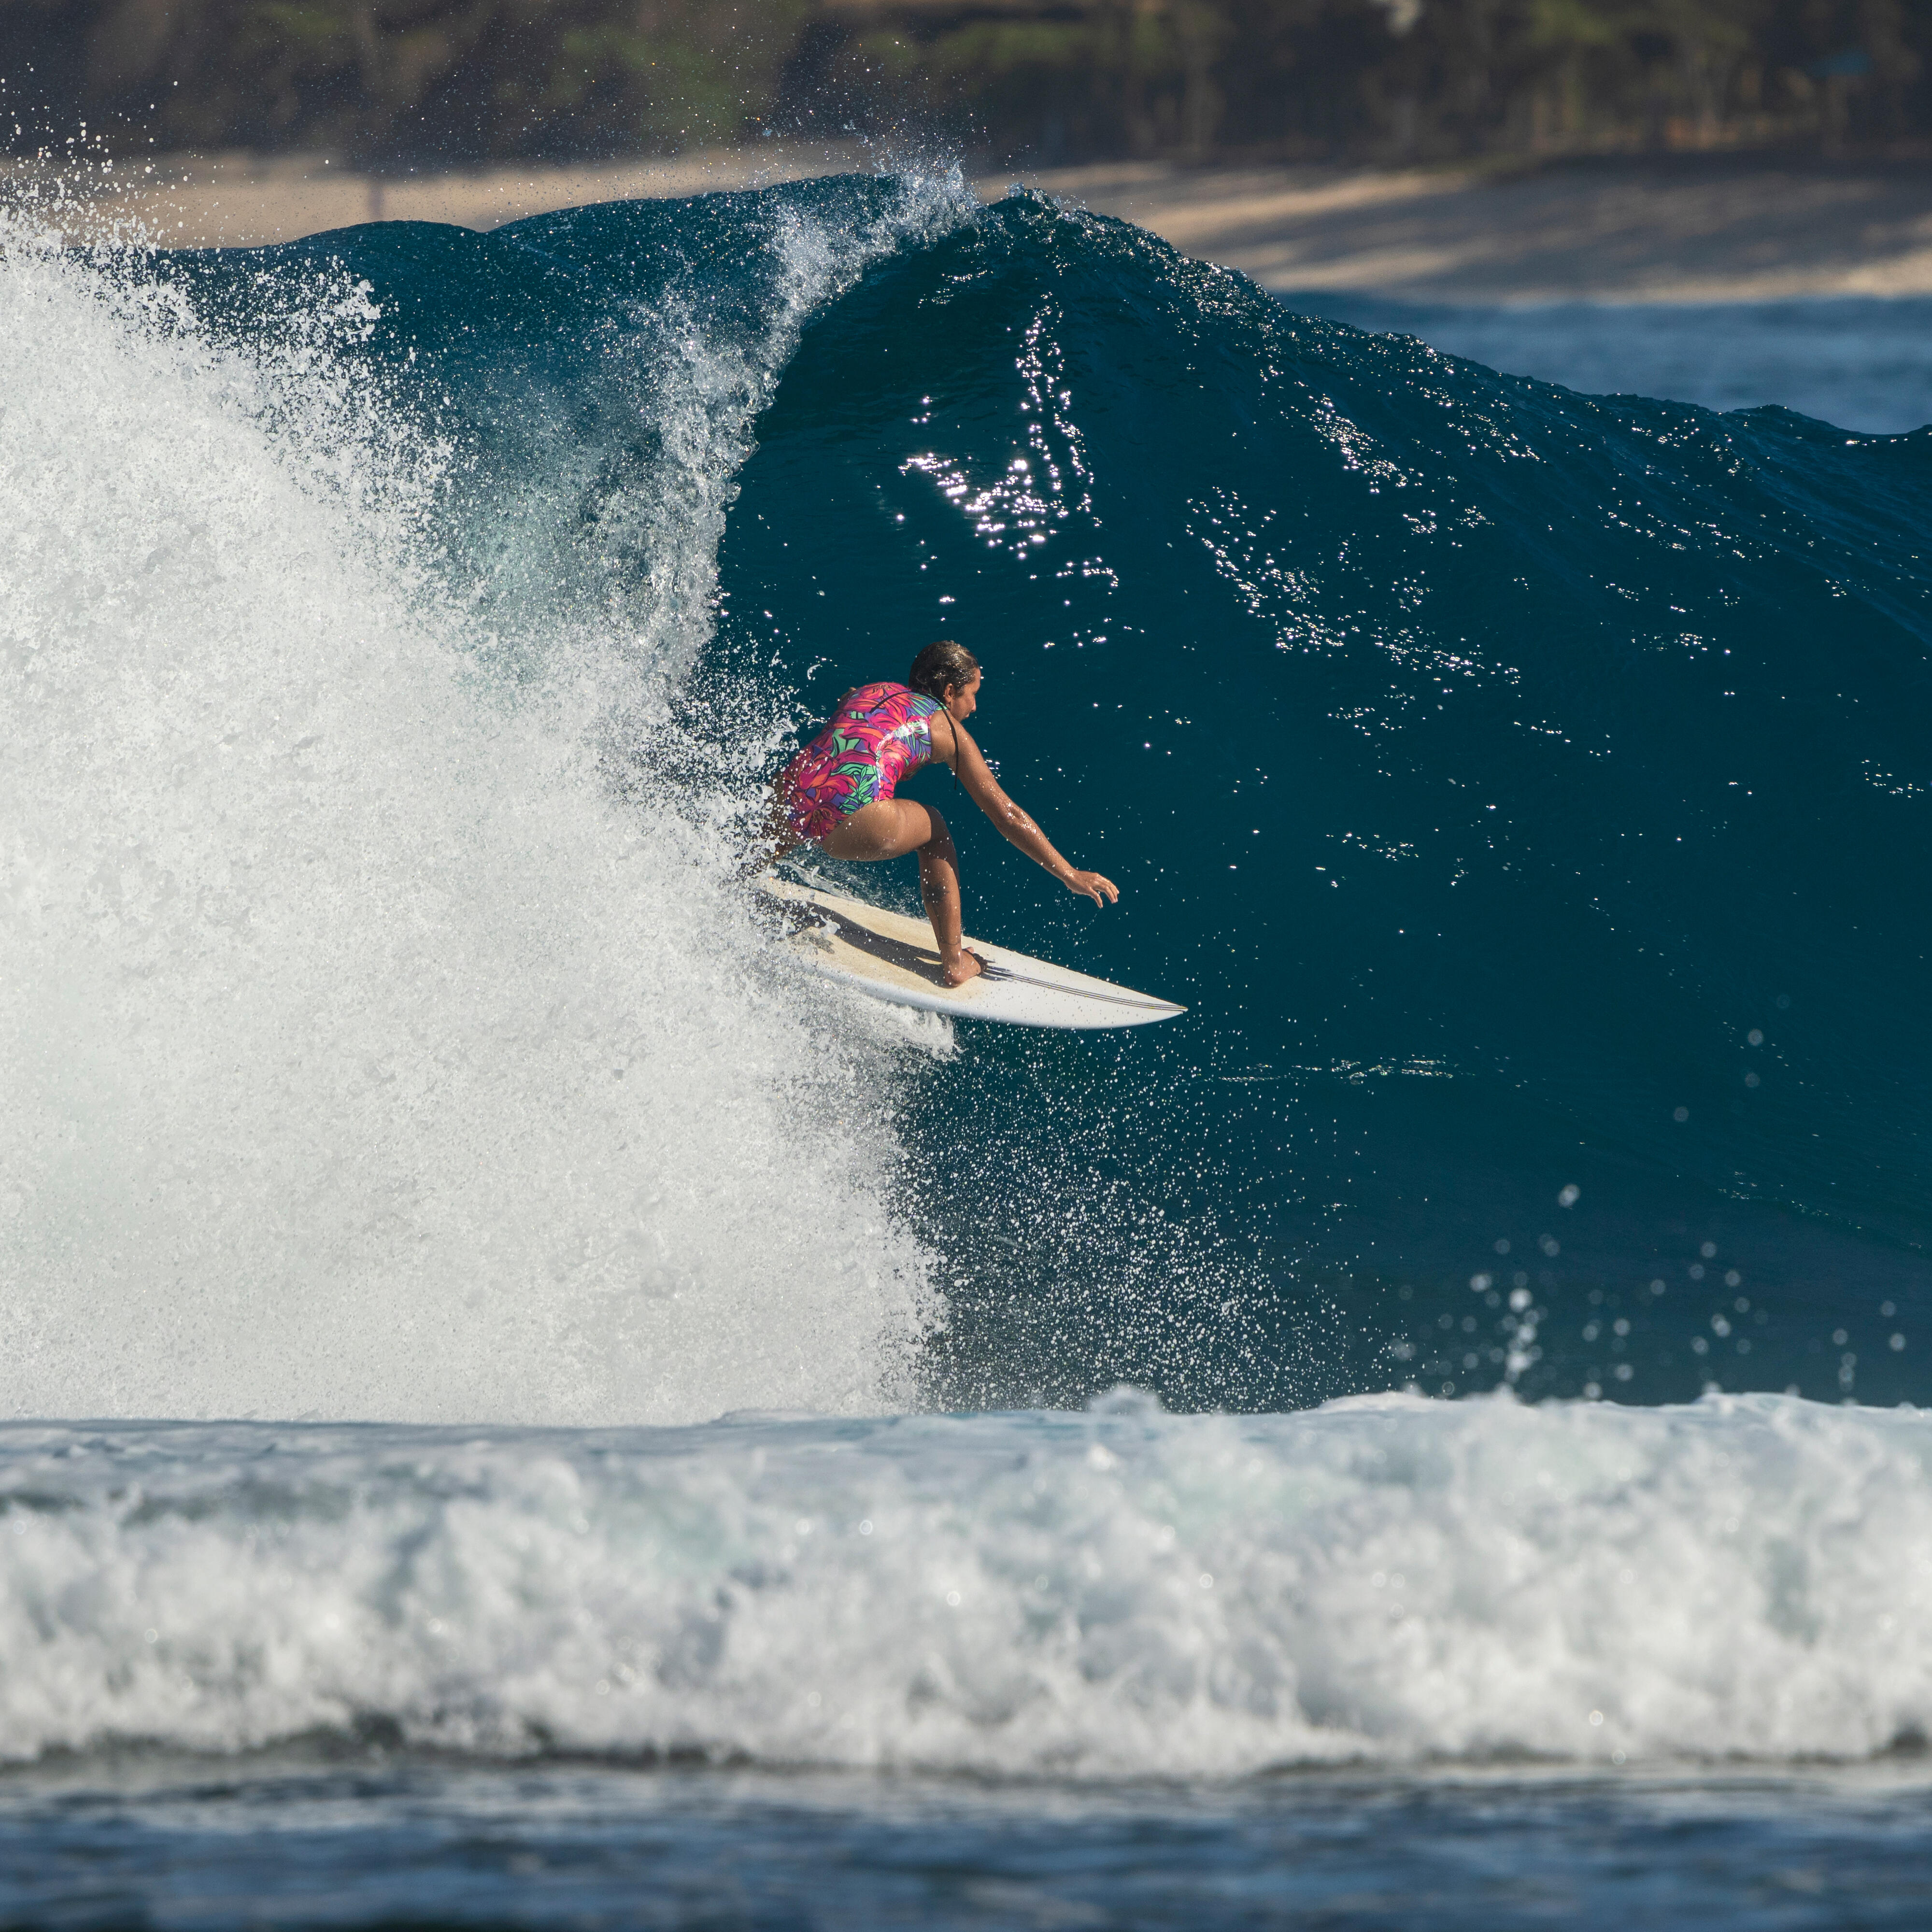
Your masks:
<svg viewBox="0 0 1932 1932"><path fill-rule="evenodd" d="M904 684L862 684L846 692L831 724L775 784L773 858L808 838L833 858L920 854L920 896L933 922L939 976L947 985L964 985L983 962L960 945L960 871L947 821L931 806L893 796L898 781L920 765L935 757L951 765L966 796L1068 893L1095 906L1121 896L1111 879L1068 866L999 788L966 730L978 705L980 661L958 643L929 643L912 661Z"/></svg>

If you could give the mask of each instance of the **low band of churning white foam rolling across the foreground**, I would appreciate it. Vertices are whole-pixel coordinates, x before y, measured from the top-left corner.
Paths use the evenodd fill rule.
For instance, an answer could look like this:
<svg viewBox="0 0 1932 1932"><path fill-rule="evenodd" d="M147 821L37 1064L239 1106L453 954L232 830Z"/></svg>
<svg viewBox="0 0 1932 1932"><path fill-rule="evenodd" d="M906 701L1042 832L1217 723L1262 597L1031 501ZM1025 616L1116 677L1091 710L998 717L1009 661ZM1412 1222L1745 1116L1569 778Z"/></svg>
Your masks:
<svg viewBox="0 0 1932 1932"><path fill-rule="evenodd" d="M1932 1729L1932 1418L0 1430L0 1739L1235 1776Z"/></svg>

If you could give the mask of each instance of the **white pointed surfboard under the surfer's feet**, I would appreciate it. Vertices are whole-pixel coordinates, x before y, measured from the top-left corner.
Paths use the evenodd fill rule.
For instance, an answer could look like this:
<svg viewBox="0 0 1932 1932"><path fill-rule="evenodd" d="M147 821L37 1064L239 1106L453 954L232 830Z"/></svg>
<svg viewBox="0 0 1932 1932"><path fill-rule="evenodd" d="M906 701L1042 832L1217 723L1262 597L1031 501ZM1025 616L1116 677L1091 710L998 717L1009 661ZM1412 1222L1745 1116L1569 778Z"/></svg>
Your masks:
<svg viewBox="0 0 1932 1932"><path fill-rule="evenodd" d="M1066 1028L1146 1026L1188 1010L983 939L968 939L966 945L987 962L987 970L964 985L947 985L939 978L939 947L925 920L908 920L902 912L790 879L767 877L759 885L777 902L786 951L811 972L895 1007L947 1012L956 1020Z"/></svg>

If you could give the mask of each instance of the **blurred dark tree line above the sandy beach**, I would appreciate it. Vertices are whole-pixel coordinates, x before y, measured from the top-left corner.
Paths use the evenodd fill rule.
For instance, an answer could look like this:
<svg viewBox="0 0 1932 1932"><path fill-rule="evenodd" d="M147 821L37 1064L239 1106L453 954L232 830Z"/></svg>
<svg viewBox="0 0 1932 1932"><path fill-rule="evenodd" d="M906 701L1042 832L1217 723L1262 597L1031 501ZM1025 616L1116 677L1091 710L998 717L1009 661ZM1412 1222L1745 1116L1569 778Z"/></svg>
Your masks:
<svg viewBox="0 0 1932 1932"><path fill-rule="evenodd" d="M377 164L848 129L1037 164L1911 147L1928 70L1932 0L0 0L15 145Z"/></svg>

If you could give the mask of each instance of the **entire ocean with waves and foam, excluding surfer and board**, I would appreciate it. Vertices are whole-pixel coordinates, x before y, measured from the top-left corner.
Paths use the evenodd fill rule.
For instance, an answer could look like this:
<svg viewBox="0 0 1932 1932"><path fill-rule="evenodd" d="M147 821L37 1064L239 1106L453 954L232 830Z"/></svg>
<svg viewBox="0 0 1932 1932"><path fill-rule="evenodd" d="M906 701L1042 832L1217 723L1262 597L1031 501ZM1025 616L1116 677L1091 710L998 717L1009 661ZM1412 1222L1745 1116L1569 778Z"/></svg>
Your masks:
<svg viewBox="0 0 1932 1932"><path fill-rule="evenodd" d="M1870 357L1588 394L956 178L60 216L0 216L0 1924L1924 1922ZM935 636L1122 889L925 773L968 931L1184 1018L786 968L763 784Z"/></svg>

